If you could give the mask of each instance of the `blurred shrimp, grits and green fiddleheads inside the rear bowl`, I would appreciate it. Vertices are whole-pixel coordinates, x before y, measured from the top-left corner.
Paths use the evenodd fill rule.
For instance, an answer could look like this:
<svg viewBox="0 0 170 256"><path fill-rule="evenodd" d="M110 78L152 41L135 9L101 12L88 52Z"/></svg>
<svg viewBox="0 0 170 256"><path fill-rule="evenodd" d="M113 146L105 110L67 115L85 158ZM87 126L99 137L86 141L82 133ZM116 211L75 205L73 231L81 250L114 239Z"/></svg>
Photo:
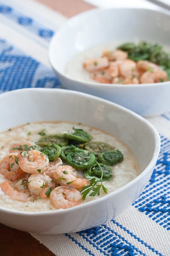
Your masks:
<svg viewBox="0 0 170 256"><path fill-rule="evenodd" d="M100 55L97 55L96 50L92 58L90 58L90 55L93 56L93 49L91 52L89 49L80 53L80 56L74 57L74 60L66 68L66 72L70 74L71 66L77 60L79 65L82 66L81 71L77 67L78 72L82 74L84 80L89 82L150 84L170 80L170 54L165 52L159 44L141 41L138 44L122 44L116 47L115 50L113 50L113 47L108 49L107 46L105 50L104 48L99 49L98 53ZM74 73L72 74L75 76Z"/></svg>

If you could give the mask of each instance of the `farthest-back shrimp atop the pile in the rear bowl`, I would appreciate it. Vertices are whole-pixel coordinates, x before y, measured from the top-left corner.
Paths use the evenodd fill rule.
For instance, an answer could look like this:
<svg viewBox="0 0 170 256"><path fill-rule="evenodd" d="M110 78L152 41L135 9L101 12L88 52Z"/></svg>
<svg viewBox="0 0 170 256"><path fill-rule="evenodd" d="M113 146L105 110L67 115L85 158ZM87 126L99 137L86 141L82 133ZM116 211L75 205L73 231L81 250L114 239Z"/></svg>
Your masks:
<svg viewBox="0 0 170 256"><path fill-rule="evenodd" d="M115 50L115 51L103 51L102 57L106 57L109 60L125 60L127 59L127 52L124 52L122 50Z"/></svg>

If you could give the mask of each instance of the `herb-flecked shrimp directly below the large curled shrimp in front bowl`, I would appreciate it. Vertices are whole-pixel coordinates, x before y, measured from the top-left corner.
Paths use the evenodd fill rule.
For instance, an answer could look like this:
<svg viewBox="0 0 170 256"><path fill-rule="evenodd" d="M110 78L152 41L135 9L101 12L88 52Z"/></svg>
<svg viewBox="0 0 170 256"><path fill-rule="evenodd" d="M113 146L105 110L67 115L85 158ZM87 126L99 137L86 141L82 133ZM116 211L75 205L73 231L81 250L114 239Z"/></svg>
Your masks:
<svg viewBox="0 0 170 256"><path fill-rule="evenodd" d="M28 178L28 188L33 196L41 196L42 198L47 198L47 196L44 193L49 188L55 188L54 181L45 173L44 174L31 174ZM48 188L46 190L46 188Z"/></svg>

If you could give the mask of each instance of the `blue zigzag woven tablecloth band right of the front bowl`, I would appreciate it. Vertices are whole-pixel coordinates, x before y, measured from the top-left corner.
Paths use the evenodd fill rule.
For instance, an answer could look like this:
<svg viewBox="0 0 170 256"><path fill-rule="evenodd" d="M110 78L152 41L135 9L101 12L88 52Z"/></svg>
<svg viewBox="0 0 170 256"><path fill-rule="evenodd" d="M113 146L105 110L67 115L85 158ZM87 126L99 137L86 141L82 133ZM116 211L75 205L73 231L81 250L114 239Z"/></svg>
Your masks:
<svg viewBox="0 0 170 256"><path fill-rule="evenodd" d="M170 140L160 136L161 149L149 183L133 206L170 230Z"/></svg>

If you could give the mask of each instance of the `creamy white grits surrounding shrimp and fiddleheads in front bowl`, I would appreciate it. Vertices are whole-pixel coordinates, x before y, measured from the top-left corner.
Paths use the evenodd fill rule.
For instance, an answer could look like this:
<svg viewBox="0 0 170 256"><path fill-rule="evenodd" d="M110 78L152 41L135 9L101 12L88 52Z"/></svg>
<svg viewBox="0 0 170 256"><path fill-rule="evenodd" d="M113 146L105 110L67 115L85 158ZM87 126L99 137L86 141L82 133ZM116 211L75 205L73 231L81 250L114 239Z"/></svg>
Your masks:
<svg viewBox="0 0 170 256"><path fill-rule="evenodd" d="M22 141L29 140L31 142L37 142L42 138L38 133L45 129L45 133L49 134L64 134L66 131L72 130L72 127L83 129L88 132L93 138L92 141L100 141L109 144L115 149L119 149L124 158L119 164L111 166L113 176L110 180L104 181L103 184L107 188L107 192L112 192L118 188L124 186L135 177L139 175L139 167L137 160L133 153L117 138L106 134L105 132L81 124L72 124L69 122L43 122L43 123L28 123L26 125L9 129L6 132L0 134L0 160L9 153L10 146L14 143L21 143ZM65 165L65 164L64 164ZM78 170L78 175L84 177L83 171ZM0 183L6 181L4 175L0 174ZM100 196L86 196L83 203L106 195L103 190L100 191ZM5 195L0 188L0 207L10 210L20 210L25 212L42 212L52 211L56 208L51 204L51 201L47 198L35 198L33 201L21 202L12 200L9 196Z"/></svg>

